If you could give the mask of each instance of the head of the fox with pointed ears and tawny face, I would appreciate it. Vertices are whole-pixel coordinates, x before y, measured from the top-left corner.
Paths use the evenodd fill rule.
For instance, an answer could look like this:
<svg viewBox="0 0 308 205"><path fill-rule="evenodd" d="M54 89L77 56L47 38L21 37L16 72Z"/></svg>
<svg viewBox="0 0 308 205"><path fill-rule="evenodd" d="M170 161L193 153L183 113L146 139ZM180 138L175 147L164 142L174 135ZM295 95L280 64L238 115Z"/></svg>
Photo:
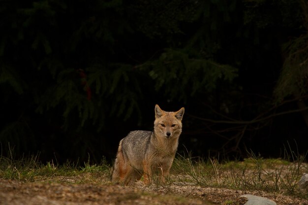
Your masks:
<svg viewBox="0 0 308 205"><path fill-rule="evenodd" d="M156 135L166 138L179 137L182 132L184 107L177 112L166 112L155 105L154 131Z"/></svg>

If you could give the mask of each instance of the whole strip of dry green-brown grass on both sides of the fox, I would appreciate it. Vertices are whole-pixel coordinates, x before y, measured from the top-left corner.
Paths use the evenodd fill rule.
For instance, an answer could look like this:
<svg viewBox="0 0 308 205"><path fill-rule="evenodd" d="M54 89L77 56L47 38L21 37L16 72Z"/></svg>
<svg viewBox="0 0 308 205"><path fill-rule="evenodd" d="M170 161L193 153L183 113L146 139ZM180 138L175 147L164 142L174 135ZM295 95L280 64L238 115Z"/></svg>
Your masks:
<svg viewBox="0 0 308 205"><path fill-rule="evenodd" d="M285 149L286 150L286 149ZM53 161L43 164L37 156L15 160L0 156L0 179L18 181L48 181L64 183L109 184L111 166L102 160L100 164L76 166ZM308 199L307 192L299 189L298 182L308 172L305 157L293 151L285 151L284 159L263 159L249 152L244 161L218 162L215 158L202 160L178 156L171 170L169 184L198 185L242 190L264 190ZM168 184L167 184L168 185Z"/></svg>

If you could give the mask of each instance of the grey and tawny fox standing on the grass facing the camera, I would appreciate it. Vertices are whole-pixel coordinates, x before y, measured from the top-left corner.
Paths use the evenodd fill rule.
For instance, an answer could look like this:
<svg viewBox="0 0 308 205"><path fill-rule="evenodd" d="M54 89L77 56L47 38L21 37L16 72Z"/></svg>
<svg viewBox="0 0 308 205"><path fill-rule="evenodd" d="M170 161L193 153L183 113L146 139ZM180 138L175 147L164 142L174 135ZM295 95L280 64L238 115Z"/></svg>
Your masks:
<svg viewBox="0 0 308 205"><path fill-rule="evenodd" d="M156 104L154 111L153 131L131 131L120 141L112 182L127 186L143 176L144 183L150 184L158 174L158 180L165 183L178 149L185 109L166 112Z"/></svg>

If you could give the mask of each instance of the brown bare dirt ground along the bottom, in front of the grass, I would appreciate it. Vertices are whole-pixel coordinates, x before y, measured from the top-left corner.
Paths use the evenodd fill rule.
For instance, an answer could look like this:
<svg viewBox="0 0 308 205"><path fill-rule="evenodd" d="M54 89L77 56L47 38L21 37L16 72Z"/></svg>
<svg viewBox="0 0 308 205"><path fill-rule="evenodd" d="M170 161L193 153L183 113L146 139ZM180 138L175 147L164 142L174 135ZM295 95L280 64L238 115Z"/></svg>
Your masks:
<svg viewBox="0 0 308 205"><path fill-rule="evenodd" d="M244 205L243 194L277 205L308 205L308 200L261 191L198 186L145 186L18 182L0 179L0 205Z"/></svg>

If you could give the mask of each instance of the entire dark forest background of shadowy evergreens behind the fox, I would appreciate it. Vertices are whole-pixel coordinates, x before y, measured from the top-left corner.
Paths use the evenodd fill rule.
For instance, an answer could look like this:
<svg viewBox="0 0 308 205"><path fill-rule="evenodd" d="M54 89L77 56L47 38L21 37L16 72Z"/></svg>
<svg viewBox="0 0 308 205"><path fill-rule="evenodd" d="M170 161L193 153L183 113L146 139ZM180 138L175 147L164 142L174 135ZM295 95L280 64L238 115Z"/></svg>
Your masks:
<svg viewBox="0 0 308 205"><path fill-rule="evenodd" d="M0 0L1 155L112 161L154 105L179 152L308 150L307 0Z"/></svg>

